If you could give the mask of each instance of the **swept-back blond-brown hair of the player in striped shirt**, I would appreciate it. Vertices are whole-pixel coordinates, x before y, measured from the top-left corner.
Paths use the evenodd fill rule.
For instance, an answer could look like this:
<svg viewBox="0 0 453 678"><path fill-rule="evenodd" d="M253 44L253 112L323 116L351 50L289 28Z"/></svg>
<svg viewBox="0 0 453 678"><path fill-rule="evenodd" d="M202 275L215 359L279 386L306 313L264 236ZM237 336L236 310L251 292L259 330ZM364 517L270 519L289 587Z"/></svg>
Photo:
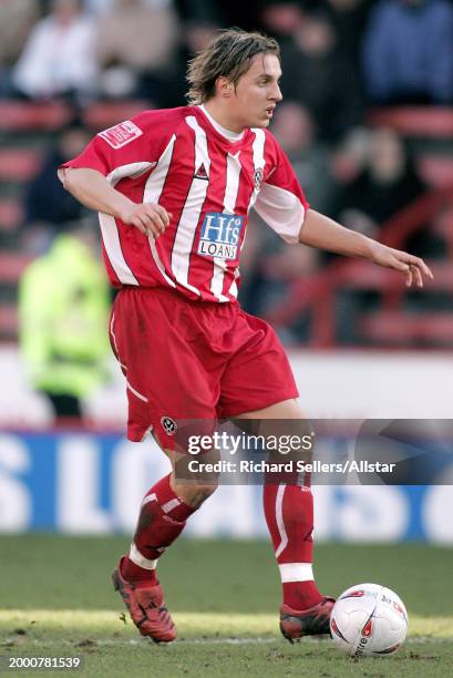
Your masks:
<svg viewBox="0 0 453 678"><path fill-rule="evenodd" d="M236 85L250 68L251 59L266 53L280 56L280 48L274 38L236 28L220 31L206 49L188 62L188 102L200 104L214 96L220 75Z"/></svg>

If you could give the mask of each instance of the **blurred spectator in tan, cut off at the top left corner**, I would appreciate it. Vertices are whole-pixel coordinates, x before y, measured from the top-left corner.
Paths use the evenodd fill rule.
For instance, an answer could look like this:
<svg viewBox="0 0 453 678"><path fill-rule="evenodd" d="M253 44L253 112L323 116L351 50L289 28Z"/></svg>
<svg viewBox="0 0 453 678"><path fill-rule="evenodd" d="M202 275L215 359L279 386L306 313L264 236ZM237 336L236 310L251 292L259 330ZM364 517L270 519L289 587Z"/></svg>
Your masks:
<svg viewBox="0 0 453 678"><path fill-rule="evenodd" d="M0 94L10 90L9 72L39 17L39 0L0 0Z"/></svg>

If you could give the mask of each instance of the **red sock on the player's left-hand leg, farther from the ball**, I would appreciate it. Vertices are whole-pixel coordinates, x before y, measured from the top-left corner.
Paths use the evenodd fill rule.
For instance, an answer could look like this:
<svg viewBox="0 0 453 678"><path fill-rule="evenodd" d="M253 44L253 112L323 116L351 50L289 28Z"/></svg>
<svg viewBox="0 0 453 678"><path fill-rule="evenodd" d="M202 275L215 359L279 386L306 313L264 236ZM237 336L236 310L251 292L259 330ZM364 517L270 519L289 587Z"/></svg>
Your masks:
<svg viewBox="0 0 453 678"><path fill-rule="evenodd" d="M179 536L186 520L196 511L173 492L171 475L153 485L142 502L131 552L122 563L122 575L130 582L157 584L155 561Z"/></svg>

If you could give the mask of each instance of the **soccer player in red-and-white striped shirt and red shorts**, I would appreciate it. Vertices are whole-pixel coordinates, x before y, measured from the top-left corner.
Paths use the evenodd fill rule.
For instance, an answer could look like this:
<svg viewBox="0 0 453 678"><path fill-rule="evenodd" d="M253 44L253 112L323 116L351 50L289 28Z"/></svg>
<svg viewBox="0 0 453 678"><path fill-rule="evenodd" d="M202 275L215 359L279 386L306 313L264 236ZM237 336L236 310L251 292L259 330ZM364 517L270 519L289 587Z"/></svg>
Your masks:
<svg viewBox="0 0 453 678"><path fill-rule="evenodd" d="M152 431L173 469L182 420L292 419L303 429L280 342L237 302L253 207L287 243L368 258L401 271L408 286L432 277L422 259L309 208L267 131L280 76L275 40L223 31L189 64L188 106L144 111L101 132L60 170L68 191L100 213L105 266L121 288L110 336L126 377L127 436L141 441ZM176 637L158 558L214 490L174 471L156 482L113 573L134 624L156 641ZM333 599L313 581L309 485L265 485L264 507L282 582L284 636L328 633Z"/></svg>

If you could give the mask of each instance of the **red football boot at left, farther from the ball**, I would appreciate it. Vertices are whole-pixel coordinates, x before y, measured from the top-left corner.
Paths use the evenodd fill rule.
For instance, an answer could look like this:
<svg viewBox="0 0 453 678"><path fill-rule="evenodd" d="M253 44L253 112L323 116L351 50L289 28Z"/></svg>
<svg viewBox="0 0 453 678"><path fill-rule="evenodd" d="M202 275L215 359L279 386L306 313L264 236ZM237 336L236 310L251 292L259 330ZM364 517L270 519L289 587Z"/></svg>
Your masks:
<svg viewBox="0 0 453 678"><path fill-rule="evenodd" d="M113 571L112 582L120 592L132 620L142 634L154 643L172 643L176 638L176 627L164 604L164 593L159 584L135 586L121 574L121 564Z"/></svg>

